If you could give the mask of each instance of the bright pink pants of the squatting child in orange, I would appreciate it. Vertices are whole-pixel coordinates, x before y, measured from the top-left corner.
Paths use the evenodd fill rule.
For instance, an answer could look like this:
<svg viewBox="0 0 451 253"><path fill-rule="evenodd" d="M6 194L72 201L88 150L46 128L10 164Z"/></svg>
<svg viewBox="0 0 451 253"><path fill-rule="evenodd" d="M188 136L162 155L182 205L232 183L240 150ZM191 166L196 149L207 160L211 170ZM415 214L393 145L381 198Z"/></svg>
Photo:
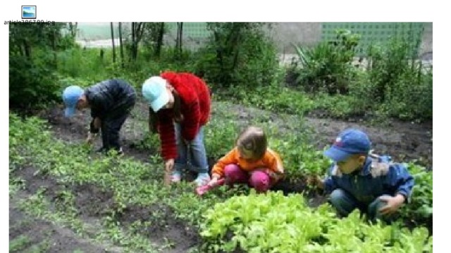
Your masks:
<svg viewBox="0 0 451 253"><path fill-rule="evenodd" d="M248 183L258 193L264 193L271 188L271 178L264 171L247 172L237 164L228 164L224 168L224 174L227 183Z"/></svg>

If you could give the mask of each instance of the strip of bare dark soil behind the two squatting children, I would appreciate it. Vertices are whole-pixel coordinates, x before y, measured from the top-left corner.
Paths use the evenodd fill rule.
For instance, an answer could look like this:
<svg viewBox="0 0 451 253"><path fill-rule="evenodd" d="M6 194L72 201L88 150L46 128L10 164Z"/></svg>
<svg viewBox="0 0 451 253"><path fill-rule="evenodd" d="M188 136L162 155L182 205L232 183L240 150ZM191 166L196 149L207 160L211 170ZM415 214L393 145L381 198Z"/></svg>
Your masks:
<svg viewBox="0 0 451 253"><path fill-rule="evenodd" d="M230 105L228 105L230 107ZM388 154L396 162L419 160L419 163L432 168L432 123L416 124L412 122L400 122L391 120L385 124L371 125L361 119L348 121L321 118L299 117L296 115L276 114L256 108L245 108L241 105L231 105L237 120L246 124L261 115L271 124L275 124L281 131L295 133L308 133L311 135L311 144L319 149L333 143L340 131L347 128L357 128L365 131L371 139L375 153Z"/></svg>

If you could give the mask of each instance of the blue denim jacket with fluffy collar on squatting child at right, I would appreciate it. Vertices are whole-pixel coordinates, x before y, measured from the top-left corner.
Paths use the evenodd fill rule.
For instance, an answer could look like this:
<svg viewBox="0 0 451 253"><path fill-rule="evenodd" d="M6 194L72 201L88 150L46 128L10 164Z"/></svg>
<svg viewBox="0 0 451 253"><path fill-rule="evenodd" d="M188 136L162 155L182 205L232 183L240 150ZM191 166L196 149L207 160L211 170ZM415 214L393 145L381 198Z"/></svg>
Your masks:
<svg viewBox="0 0 451 253"><path fill-rule="evenodd" d="M359 202L369 204L381 195L400 193L409 201L414 178L403 164L367 157L364 167L352 174L342 174L336 164L329 169L324 181L324 190L331 193L340 188L353 195Z"/></svg>

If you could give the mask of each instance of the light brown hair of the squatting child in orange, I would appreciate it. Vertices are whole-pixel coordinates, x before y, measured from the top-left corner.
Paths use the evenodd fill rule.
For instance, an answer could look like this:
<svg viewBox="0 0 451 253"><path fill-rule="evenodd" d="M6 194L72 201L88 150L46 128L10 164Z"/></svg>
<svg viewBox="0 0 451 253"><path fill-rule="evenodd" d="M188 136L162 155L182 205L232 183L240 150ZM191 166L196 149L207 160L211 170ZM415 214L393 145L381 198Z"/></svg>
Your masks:
<svg viewBox="0 0 451 253"><path fill-rule="evenodd" d="M238 136L236 145L238 150L252 153L252 158L261 159L266 153L268 142L263 129L257 126L249 126Z"/></svg>

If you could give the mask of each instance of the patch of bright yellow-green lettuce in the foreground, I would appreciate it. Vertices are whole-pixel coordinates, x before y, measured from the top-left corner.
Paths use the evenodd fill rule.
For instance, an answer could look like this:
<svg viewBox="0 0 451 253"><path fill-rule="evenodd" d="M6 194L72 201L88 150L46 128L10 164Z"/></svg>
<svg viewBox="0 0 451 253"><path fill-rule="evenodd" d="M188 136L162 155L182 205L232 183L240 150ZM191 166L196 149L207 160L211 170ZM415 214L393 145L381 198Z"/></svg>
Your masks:
<svg viewBox="0 0 451 253"><path fill-rule="evenodd" d="M207 252L432 252L426 228L370 225L358 211L338 219L330 205L310 209L298 194L252 191L216 204L204 216Z"/></svg>

